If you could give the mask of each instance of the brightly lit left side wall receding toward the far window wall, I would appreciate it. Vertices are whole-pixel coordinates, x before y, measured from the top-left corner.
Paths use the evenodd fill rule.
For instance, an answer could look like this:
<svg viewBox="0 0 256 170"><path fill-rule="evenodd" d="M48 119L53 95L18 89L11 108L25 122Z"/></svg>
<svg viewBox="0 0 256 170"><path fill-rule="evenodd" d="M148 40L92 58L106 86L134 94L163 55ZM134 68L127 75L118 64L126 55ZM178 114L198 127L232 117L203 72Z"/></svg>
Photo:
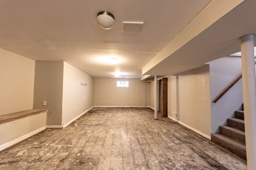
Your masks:
<svg viewBox="0 0 256 170"><path fill-rule="evenodd" d="M92 76L64 62L62 124L93 107L93 89Z"/></svg>

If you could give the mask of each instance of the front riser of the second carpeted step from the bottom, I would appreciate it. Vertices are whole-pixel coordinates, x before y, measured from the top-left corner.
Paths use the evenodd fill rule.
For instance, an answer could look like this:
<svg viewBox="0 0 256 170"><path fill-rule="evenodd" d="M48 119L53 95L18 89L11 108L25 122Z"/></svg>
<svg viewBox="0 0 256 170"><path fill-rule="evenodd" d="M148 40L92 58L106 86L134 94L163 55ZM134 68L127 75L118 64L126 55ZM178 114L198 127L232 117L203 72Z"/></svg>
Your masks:
<svg viewBox="0 0 256 170"><path fill-rule="evenodd" d="M225 136L228 136L236 141L239 141L239 142L245 144L245 134L244 133L241 133L241 132L239 133L232 129L228 129L228 128L220 126L220 134L223 134Z"/></svg>

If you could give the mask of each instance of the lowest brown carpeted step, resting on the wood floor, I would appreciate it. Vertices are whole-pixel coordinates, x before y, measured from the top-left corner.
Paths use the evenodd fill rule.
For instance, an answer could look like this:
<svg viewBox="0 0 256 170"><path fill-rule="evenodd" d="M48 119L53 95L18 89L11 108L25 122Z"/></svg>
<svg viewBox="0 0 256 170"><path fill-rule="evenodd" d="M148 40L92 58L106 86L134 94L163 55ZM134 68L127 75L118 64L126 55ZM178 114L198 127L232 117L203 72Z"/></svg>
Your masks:
<svg viewBox="0 0 256 170"><path fill-rule="evenodd" d="M246 160L246 146L223 134L212 134L212 141Z"/></svg>

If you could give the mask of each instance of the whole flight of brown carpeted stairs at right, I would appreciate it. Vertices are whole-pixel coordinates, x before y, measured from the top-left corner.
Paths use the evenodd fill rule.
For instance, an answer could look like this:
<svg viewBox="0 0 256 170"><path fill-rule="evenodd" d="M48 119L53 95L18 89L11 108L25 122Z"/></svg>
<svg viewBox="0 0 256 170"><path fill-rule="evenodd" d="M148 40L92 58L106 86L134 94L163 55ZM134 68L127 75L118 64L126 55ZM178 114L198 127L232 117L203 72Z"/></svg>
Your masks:
<svg viewBox="0 0 256 170"><path fill-rule="evenodd" d="M227 122L219 127L220 133L212 134L212 141L246 160L244 111L235 111L235 118Z"/></svg>

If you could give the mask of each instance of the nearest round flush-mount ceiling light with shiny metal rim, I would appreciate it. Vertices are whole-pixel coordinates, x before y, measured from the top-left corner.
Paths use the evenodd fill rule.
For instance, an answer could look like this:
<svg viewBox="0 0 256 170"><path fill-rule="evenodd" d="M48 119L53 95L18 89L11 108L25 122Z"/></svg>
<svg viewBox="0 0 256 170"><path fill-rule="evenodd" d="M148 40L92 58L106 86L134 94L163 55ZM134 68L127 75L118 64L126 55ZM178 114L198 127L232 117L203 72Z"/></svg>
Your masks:
<svg viewBox="0 0 256 170"><path fill-rule="evenodd" d="M101 11L97 15L97 23L105 30L108 30L114 26L115 18L110 12Z"/></svg>

